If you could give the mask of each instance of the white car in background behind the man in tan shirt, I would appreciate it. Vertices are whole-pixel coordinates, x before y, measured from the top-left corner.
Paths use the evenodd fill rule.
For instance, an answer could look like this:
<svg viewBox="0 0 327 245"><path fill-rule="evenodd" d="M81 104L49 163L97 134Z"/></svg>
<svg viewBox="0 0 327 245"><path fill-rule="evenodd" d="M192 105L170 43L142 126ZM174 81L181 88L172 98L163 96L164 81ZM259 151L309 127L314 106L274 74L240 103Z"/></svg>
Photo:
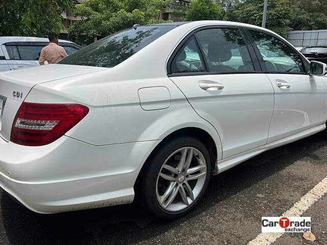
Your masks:
<svg viewBox="0 0 327 245"><path fill-rule="evenodd" d="M40 37L0 37L0 72L39 65L39 53L49 44L48 38ZM71 41L59 39L67 55L82 47Z"/></svg>

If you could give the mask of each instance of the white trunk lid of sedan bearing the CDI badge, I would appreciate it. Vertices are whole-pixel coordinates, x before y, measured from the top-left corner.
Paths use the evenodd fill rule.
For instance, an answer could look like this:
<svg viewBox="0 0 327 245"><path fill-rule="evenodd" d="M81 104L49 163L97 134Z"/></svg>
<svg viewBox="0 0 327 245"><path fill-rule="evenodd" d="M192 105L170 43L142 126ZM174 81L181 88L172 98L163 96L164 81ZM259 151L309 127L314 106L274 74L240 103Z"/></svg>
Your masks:
<svg viewBox="0 0 327 245"><path fill-rule="evenodd" d="M10 140L15 115L35 85L102 69L108 68L52 64L0 72L0 136Z"/></svg>

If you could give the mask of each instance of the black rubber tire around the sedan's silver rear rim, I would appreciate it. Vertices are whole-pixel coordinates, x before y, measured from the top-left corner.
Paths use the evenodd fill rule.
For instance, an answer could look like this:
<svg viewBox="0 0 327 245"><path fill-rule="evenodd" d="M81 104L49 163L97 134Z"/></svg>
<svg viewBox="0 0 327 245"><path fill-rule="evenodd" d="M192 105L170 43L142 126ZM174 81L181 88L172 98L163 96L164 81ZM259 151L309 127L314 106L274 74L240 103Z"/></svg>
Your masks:
<svg viewBox="0 0 327 245"><path fill-rule="evenodd" d="M202 156L205 159L206 175L205 175L204 185L200 190L200 192L198 193L197 197L194 199L194 201L191 204L189 204L188 207L180 211L171 212L165 210L159 204L156 195L157 177L159 171L161 170L161 166L164 164L165 160L178 149L188 146L191 148L195 148L200 153L202 153ZM140 203L146 208L146 210L150 211L153 215L159 218L164 218L164 219L178 218L191 211L197 205L197 203L200 201L200 199L203 196L203 193L207 188L210 177L211 177L211 159L205 145L197 138L189 137L189 136L172 139L164 143L163 145L160 145L160 148L146 162L145 170L143 171L143 175L140 183L141 193L139 194L141 195L141 199L139 199L139 201L141 201ZM177 195L179 195L179 193Z"/></svg>

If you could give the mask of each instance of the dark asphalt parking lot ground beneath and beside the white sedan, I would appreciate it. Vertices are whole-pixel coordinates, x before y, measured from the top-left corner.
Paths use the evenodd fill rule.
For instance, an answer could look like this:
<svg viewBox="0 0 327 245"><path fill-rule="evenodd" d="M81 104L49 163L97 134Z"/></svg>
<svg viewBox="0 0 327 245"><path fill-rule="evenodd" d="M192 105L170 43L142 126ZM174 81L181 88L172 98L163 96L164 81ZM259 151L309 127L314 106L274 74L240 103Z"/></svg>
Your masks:
<svg viewBox="0 0 327 245"><path fill-rule="evenodd" d="M327 176L327 137L317 134L250 159L209 183L196 210L173 221L136 205L53 215L33 213L1 193L0 244L247 244L261 216L279 216ZM317 240L285 233L273 244L327 244L327 198L311 216Z"/></svg>

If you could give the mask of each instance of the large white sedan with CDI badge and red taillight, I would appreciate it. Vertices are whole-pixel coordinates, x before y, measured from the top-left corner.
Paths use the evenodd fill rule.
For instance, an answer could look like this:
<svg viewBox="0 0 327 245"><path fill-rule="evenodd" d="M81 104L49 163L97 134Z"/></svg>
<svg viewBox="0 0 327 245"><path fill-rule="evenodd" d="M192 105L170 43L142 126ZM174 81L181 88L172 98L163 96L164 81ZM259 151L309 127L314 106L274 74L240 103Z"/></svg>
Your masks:
<svg viewBox="0 0 327 245"><path fill-rule="evenodd" d="M256 26L134 26L0 75L0 185L39 213L136 198L179 217L212 175L324 130L325 74Z"/></svg>

